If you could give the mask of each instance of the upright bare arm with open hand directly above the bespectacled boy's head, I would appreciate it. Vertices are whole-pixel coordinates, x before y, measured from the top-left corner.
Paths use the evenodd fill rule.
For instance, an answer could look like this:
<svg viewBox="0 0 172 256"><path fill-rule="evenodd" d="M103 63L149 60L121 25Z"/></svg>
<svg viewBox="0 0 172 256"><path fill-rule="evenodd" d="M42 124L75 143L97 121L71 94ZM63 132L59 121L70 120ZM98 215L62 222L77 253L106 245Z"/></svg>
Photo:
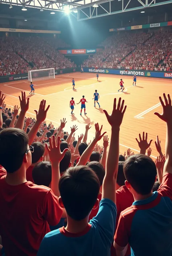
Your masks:
<svg viewBox="0 0 172 256"><path fill-rule="evenodd" d="M24 127L24 119L25 119L25 114L29 109L29 98L26 101L26 94L25 92L21 92L21 97L19 96L20 99L20 115L19 118L17 119L15 128L23 129Z"/></svg>

